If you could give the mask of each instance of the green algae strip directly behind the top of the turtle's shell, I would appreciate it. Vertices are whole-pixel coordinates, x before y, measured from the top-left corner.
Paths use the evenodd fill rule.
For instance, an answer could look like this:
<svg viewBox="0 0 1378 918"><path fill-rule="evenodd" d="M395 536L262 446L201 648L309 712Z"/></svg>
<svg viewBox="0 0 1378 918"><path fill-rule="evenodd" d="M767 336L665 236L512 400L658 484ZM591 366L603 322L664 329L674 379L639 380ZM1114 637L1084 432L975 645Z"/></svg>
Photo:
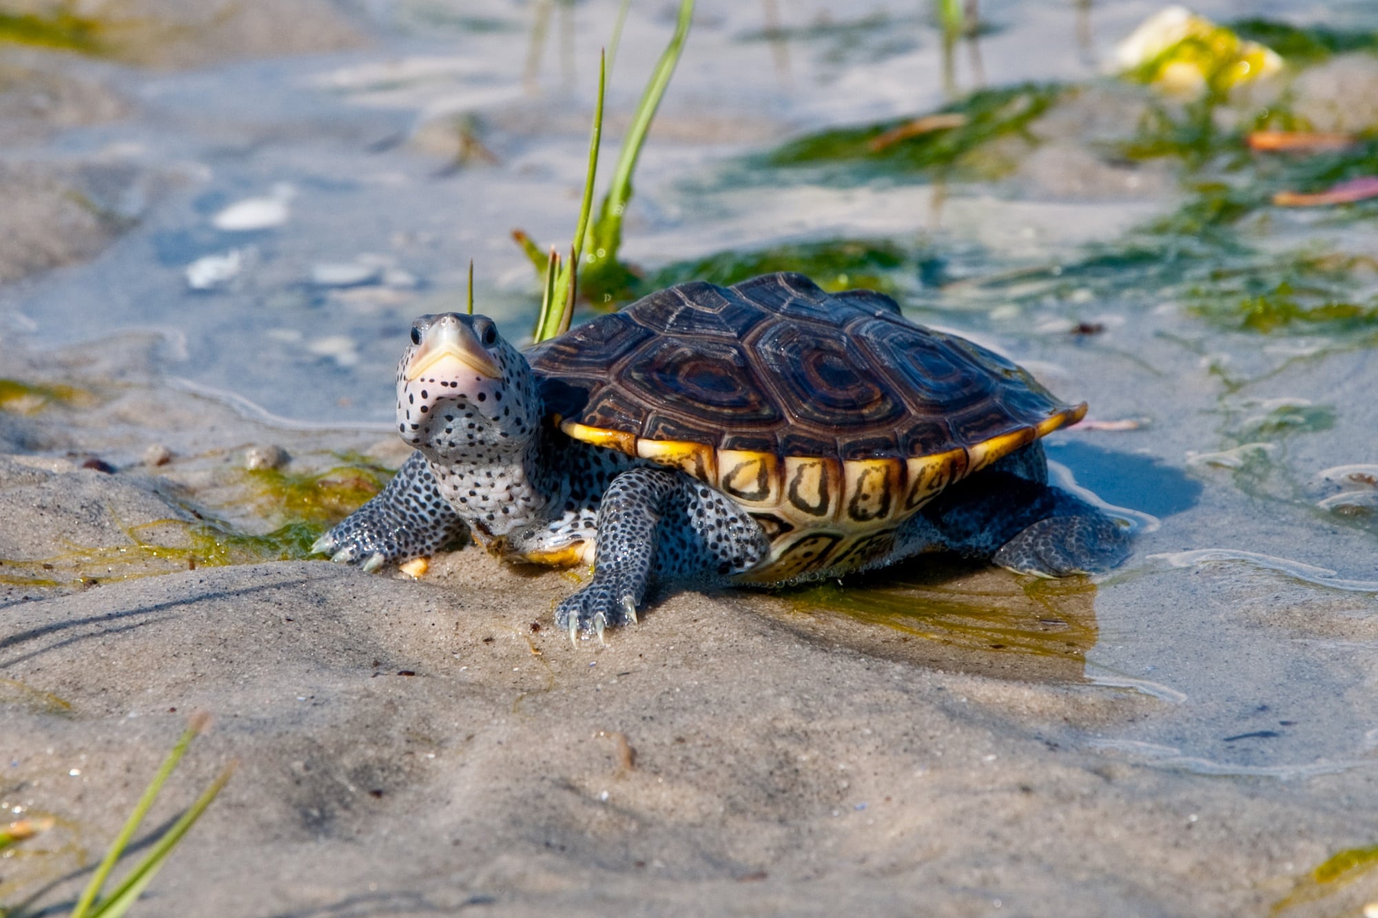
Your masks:
<svg viewBox="0 0 1378 918"><path fill-rule="evenodd" d="M886 240L824 240L758 251L723 251L697 261L675 262L646 278L645 289L689 280L736 284L772 272L799 272L827 291L867 288L896 294L911 287L921 265L915 252Z"/></svg>

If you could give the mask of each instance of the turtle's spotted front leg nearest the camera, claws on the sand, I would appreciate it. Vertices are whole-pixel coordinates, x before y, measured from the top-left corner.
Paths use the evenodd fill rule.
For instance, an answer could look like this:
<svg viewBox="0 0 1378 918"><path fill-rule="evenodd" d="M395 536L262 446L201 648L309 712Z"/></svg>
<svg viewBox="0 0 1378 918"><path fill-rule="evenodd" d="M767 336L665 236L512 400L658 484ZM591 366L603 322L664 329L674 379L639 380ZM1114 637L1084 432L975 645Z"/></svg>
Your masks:
<svg viewBox="0 0 1378 918"><path fill-rule="evenodd" d="M670 469L613 478L598 507L594 576L555 608L570 640L637 620L652 579L726 582L770 550L765 532L725 495Z"/></svg>

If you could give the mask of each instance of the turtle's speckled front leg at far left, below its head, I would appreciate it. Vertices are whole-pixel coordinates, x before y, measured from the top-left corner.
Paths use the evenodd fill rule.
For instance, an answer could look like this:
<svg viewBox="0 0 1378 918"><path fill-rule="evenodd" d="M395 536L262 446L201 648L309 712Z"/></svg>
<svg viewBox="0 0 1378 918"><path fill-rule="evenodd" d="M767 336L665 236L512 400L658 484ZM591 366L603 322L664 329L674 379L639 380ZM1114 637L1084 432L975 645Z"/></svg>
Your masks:
<svg viewBox="0 0 1378 918"><path fill-rule="evenodd" d="M317 539L311 554L376 571L434 554L463 532L464 521L437 489L426 456L413 452L382 493Z"/></svg>

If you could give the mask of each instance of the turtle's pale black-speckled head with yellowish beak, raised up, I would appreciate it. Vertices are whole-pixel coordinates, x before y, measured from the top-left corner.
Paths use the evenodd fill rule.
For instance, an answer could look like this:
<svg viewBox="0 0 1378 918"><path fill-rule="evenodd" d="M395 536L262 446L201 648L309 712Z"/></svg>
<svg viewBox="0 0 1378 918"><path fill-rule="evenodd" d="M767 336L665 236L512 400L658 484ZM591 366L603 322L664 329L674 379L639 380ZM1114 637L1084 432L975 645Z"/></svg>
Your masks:
<svg viewBox="0 0 1378 918"><path fill-rule="evenodd" d="M397 365L397 430L446 459L492 462L536 437L540 397L526 358L486 316L441 313L412 323Z"/></svg>

